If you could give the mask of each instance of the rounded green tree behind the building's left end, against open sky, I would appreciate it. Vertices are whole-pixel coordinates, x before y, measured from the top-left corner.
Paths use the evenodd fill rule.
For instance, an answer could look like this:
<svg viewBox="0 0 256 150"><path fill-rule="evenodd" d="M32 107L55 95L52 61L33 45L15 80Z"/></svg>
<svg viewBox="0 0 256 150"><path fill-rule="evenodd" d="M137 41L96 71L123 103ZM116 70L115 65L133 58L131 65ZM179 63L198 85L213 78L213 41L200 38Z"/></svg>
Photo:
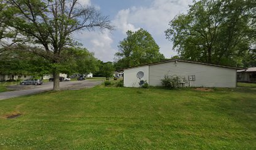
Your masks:
<svg viewBox="0 0 256 150"><path fill-rule="evenodd" d="M127 31L127 37L119 43L119 52L115 53L117 69L153 63L164 59L154 38L144 29Z"/></svg>

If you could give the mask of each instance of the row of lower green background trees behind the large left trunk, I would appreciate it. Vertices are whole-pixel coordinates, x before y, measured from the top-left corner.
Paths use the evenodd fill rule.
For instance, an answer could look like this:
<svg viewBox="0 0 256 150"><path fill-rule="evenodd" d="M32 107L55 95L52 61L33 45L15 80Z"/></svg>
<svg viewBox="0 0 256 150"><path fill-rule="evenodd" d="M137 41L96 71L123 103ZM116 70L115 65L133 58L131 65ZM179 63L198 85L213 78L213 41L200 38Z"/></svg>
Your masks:
<svg viewBox="0 0 256 150"><path fill-rule="evenodd" d="M83 47L64 49L59 64L49 63L36 54L19 50L13 50L8 58L0 60L0 64L0 74L24 74L37 77L51 74L52 68L58 68L58 72L66 74L89 74L99 71L98 59Z"/></svg>

